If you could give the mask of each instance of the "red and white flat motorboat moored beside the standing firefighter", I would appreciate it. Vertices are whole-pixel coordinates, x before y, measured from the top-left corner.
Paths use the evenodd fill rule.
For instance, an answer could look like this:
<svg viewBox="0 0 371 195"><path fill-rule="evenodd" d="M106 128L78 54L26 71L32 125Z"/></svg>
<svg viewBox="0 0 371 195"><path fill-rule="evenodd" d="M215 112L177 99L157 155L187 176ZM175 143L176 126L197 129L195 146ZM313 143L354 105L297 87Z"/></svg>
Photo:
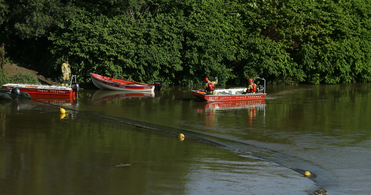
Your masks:
<svg viewBox="0 0 371 195"><path fill-rule="evenodd" d="M79 84L76 83L76 75L72 75L72 78L75 77L75 83L70 85L45 85L45 84L27 84L27 83L8 83L3 85L4 89L13 89L14 87L19 88L20 91L29 93L33 99L38 97L54 97L54 96L63 96L63 97L75 97L78 94Z"/></svg>

